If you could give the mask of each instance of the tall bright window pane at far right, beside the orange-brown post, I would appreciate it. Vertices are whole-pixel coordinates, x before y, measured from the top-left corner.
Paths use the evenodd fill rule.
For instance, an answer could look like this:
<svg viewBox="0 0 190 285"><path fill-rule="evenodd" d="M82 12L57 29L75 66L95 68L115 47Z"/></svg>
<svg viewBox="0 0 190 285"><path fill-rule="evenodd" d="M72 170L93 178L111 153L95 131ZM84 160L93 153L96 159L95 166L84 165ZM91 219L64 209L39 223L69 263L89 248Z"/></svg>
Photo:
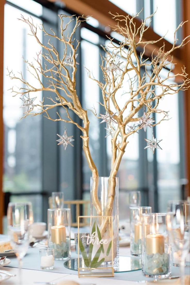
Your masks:
<svg viewBox="0 0 190 285"><path fill-rule="evenodd" d="M163 71L165 76L167 71ZM172 82L171 82L172 83ZM162 150L156 152L158 165L158 205L159 211L166 211L167 201L180 197L180 156L179 156L179 109L178 95L166 95L160 101L159 108L169 110L169 121L163 121L156 126L156 137ZM162 114L163 115L163 114ZM161 117L157 114L156 121Z"/></svg>

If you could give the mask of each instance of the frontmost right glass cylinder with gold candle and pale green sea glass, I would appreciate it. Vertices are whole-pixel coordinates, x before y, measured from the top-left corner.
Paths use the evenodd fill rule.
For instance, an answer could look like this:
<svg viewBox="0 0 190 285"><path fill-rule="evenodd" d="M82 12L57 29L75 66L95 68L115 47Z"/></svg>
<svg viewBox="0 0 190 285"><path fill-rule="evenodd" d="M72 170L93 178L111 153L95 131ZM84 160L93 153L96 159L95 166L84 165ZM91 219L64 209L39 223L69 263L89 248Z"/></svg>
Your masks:
<svg viewBox="0 0 190 285"><path fill-rule="evenodd" d="M150 225L147 233L145 225ZM151 278L171 275L171 250L166 231L166 213L142 214L142 274Z"/></svg>

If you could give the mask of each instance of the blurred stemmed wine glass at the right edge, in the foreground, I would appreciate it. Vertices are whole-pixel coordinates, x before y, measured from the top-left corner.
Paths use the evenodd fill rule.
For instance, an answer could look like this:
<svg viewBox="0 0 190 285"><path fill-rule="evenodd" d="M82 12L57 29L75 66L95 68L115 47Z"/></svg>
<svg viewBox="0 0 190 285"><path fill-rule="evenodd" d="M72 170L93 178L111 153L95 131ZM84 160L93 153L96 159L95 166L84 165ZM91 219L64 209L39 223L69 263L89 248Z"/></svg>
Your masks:
<svg viewBox="0 0 190 285"><path fill-rule="evenodd" d="M181 284L184 284L185 257L190 247L190 203L187 201L169 201L166 224L174 251L180 260Z"/></svg>

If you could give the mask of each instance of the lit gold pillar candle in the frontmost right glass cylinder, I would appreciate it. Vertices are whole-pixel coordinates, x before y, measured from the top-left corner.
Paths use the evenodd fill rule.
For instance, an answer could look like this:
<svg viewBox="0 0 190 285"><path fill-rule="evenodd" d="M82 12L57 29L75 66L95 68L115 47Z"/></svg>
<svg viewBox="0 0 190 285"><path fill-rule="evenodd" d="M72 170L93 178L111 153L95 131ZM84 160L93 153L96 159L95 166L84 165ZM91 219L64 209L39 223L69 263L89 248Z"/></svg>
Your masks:
<svg viewBox="0 0 190 285"><path fill-rule="evenodd" d="M155 253L164 253L164 236L163 235L147 235L146 236L146 253L148 255Z"/></svg>

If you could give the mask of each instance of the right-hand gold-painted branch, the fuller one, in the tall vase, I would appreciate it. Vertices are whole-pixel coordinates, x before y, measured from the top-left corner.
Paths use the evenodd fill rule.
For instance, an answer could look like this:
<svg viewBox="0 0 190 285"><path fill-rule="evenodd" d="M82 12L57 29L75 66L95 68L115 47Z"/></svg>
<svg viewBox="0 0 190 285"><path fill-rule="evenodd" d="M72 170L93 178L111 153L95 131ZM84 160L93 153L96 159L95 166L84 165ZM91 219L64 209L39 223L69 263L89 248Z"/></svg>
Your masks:
<svg viewBox="0 0 190 285"><path fill-rule="evenodd" d="M119 31L122 40L118 45L114 43L112 38L109 38L110 43L103 47L105 56L102 56L101 70L104 82L95 79L88 70L89 77L95 80L101 88L105 110L109 111L111 115L116 113L114 119L117 121L117 128L111 139L112 163L109 176L109 197L105 210L108 216L112 213L115 197L114 178L117 175L122 156L128 144L127 139L140 129L140 126L136 126L131 131L128 129L127 124L138 123L140 119L137 114L140 109L146 109L146 116L151 116L151 114L155 113L163 114L162 119L152 124L152 126L160 124L163 120L167 120L168 111L159 109L160 99L163 99L167 94L172 95L178 93L180 90L189 88L190 81L185 72L185 67L182 68L180 74L174 75L172 73L174 64L172 63L173 58L171 53L189 41L189 37L187 37L176 46L176 32L184 23L181 23L175 31L174 43L171 50L165 52L164 46L162 46L156 56L152 54L152 57L148 60L143 59L147 45L155 43L155 41L142 41L144 32L150 27L150 22L147 26L146 22L149 19L151 21L153 15L142 21L138 29L135 26L134 18L138 17L139 13L131 19L128 16L112 15L113 19L116 20L116 26L112 27L112 30ZM120 26L120 22L124 22L126 26ZM137 37L139 33L140 37ZM137 50L140 45L144 45L144 49L138 55ZM168 70L164 78L162 78L161 74L163 69ZM181 84L174 82L175 76L181 76ZM125 93L121 96L119 94L122 88L125 88ZM120 102L121 97L124 97L122 103ZM101 232L104 233L106 228L107 220L105 220Z"/></svg>

